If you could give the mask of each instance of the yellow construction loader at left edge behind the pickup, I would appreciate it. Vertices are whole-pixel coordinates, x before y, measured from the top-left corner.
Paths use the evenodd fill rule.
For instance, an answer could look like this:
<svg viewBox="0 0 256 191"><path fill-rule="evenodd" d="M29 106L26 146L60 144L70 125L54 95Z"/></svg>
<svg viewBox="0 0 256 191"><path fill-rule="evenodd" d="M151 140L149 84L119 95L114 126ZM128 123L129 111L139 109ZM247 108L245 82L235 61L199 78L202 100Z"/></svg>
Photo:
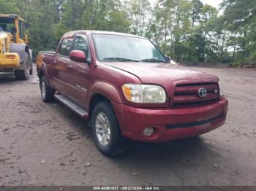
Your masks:
<svg viewBox="0 0 256 191"><path fill-rule="evenodd" d="M23 19L18 15L0 14L0 74L14 73L27 80L33 73L29 38L23 35Z"/></svg>

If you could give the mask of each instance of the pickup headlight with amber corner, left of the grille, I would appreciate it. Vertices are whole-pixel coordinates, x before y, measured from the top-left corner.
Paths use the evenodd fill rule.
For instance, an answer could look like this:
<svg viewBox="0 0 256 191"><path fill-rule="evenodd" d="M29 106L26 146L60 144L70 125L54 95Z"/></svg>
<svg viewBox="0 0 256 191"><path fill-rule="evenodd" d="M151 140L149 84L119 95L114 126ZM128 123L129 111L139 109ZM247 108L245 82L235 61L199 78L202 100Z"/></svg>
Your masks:
<svg viewBox="0 0 256 191"><path fill-rule="evenodd" d="M166 93L159 85L123 85L123 92L128 101L134 103L165 103Z"/></svg>

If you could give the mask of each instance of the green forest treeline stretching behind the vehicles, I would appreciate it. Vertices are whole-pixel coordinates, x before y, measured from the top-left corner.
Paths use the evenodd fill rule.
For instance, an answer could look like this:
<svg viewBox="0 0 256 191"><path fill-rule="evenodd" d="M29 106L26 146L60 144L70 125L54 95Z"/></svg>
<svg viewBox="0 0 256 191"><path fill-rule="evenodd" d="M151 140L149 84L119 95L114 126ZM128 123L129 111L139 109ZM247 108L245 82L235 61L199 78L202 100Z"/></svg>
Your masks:
<svg viewBox="0 0 256 191"><path fill-rule="evenodd" d="M34 52L87 29L146 36L178 62L256 63L255 0L223 0L220 9L200 0L0 0L0 13L26 20Z"/></svg>

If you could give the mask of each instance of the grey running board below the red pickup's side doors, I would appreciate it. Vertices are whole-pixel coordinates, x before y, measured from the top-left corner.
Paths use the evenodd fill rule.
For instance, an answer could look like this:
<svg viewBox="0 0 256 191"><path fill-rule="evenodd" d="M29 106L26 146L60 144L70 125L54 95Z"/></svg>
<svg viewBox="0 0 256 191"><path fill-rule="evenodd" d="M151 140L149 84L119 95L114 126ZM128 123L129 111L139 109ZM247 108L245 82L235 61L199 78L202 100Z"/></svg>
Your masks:
<svg viewBox="0 0 256 191"><path fill-rule="evenodd" d="M78 114L83 119L87 119L89 117L89 113L86 112L85 109L75 104L73 101L70 101L68 98L65 98L64 95L61 95L60 93L55 93L54 97L60 101L62 104L67 106L69 109L71 109L73 112Z"/></svg>

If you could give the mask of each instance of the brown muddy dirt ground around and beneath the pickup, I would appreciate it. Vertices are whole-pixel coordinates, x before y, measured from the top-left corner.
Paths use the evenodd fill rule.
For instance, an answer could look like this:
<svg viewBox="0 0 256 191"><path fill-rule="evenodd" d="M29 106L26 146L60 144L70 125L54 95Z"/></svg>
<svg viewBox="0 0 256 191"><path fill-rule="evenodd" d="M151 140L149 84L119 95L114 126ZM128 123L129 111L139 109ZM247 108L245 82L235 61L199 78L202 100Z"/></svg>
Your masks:
<svg viewBox="0 0 256 191"><path fill-rule="evenodd" d="M36 74L0 79L1 185L256 185L256 70L217 74L230 101L227 123L194 139L133 141L127 154L102 156L86 121L44 104Z"/></svg>

